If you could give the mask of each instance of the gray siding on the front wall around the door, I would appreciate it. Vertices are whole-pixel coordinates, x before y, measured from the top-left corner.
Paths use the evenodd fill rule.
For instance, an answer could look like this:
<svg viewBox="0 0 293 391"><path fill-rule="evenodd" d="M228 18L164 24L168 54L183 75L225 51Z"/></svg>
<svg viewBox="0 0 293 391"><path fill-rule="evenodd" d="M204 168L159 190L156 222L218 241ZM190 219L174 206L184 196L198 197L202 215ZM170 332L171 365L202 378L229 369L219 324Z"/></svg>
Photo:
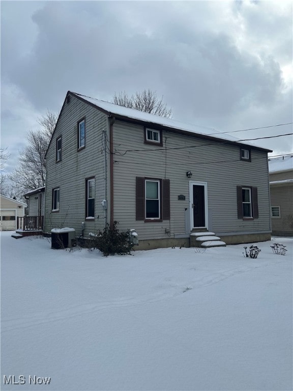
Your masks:
<svg viewBox="0 0 293 391"><path fill-rule="evenodd" d="M207 182L209 230L215 233L270 232L267 154L251 151L252 161L240 160L240 147L211 143L199 138L163 131L163 147L144 144L143 127L116 121L113 125L114 220L120 229L136 229L139 239L168 238L186 234L189 213L189 179ZM186 149L170 149L188 147ZM165 150L165 148L167 150ZM155 151L157 149L157 151ZM126 150L139 150L137 152ZM145 150L145 151L141 151ZM135 177L170 179L171 219L144 222L135 219ZM237 217L237 186L258 189L259 218ZM179 201L183 194L185 201ZM189 214L188 214L189 218Z"/></svg>

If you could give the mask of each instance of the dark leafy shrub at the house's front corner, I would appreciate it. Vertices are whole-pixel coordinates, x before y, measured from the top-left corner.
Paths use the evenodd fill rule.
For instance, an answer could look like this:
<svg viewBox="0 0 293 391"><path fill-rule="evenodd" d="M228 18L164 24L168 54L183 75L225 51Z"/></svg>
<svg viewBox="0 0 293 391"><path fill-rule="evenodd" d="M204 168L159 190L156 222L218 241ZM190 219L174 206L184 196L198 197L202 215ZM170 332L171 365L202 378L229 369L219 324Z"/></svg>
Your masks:
<svg viewBox="0 0 293 391"><path fill-rule="evenodd" d="M104 257L108 255L126 255L133 249L133 244L129 241L130 231L119 232L118 221L114 221L113 228L107 225L103 231L91 236L90 247L99 249Z"/></svg>

